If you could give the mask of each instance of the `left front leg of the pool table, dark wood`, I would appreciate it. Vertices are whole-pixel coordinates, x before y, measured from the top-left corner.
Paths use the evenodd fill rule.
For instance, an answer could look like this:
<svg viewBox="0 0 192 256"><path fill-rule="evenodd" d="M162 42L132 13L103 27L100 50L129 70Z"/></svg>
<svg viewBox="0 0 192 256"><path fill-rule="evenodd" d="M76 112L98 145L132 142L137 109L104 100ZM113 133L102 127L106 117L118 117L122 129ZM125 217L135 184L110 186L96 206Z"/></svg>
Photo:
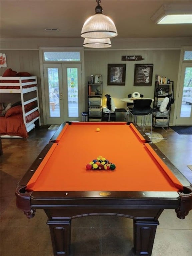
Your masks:
<svg viewBox="0 0 192 256"><path fill-rule="evenodd" d="M47 224L50 228L53 255L69 256L71 242L71 220L48 220Z"/></svg>

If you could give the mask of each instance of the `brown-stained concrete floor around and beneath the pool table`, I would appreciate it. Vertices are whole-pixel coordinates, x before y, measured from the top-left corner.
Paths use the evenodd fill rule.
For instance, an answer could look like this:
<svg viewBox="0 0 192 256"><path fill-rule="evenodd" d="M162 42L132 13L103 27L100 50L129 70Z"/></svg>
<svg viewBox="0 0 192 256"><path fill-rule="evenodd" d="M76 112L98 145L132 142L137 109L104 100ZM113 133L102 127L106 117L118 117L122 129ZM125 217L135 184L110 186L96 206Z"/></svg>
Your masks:
<svg viewBox="0 0 192 256"><path fill-rule="evenodd" d="M37 210L27 219L16 208L17 182L48 143L55 130L40 127L29 139L2 139L1 156L1 256L52 256L47 217ZM158 130L155 129L157 132ZM192 183L192 135L179 135L169 128L168 140L156 145ZM192 211L185 220L174 210L159 218L152 256L191 256ZM132 220L116 216L91 216L72 220L71 256L130 256Z"/></svg>

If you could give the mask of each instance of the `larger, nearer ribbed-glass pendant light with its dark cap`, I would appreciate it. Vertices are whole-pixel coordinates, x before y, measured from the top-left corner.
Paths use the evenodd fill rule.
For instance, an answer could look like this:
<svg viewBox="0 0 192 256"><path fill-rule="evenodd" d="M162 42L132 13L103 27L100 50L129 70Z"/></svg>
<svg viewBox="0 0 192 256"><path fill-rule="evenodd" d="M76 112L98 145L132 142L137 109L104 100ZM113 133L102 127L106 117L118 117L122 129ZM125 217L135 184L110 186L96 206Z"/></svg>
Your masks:
<svg viewBox="0 0 192 256"><path fill-rule="evenodd" d="M81 30L81 36L93 39L117 36L117 29L114 22L108 16L102 14L101 0L96 0L96 2L95 14L85 21Z"/></svg>

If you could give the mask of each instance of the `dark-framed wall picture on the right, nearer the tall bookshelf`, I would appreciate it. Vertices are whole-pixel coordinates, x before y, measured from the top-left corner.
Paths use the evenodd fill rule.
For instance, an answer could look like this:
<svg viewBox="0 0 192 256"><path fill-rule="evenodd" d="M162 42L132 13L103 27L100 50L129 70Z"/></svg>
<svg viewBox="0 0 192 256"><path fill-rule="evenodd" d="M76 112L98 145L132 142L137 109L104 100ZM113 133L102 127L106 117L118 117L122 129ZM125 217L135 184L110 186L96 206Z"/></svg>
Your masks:
<svg viewBox="0 0 192 256"><path fill-rule="evenodd" d="M153 64L135 64L134 86L151 86Z"/></svg>

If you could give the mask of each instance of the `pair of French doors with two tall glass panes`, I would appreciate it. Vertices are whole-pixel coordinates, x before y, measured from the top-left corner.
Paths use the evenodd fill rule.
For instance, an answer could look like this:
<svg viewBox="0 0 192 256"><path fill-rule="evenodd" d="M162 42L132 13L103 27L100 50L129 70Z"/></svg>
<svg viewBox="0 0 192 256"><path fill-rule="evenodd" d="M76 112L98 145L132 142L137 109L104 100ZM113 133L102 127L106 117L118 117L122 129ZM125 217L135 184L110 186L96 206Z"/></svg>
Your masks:
<svg viewBox="0 0 192 256"><path fill-rule="evenodd" d="M80 63L44 63L44 90L47 124L80 121L82 78Z"/></svg>

